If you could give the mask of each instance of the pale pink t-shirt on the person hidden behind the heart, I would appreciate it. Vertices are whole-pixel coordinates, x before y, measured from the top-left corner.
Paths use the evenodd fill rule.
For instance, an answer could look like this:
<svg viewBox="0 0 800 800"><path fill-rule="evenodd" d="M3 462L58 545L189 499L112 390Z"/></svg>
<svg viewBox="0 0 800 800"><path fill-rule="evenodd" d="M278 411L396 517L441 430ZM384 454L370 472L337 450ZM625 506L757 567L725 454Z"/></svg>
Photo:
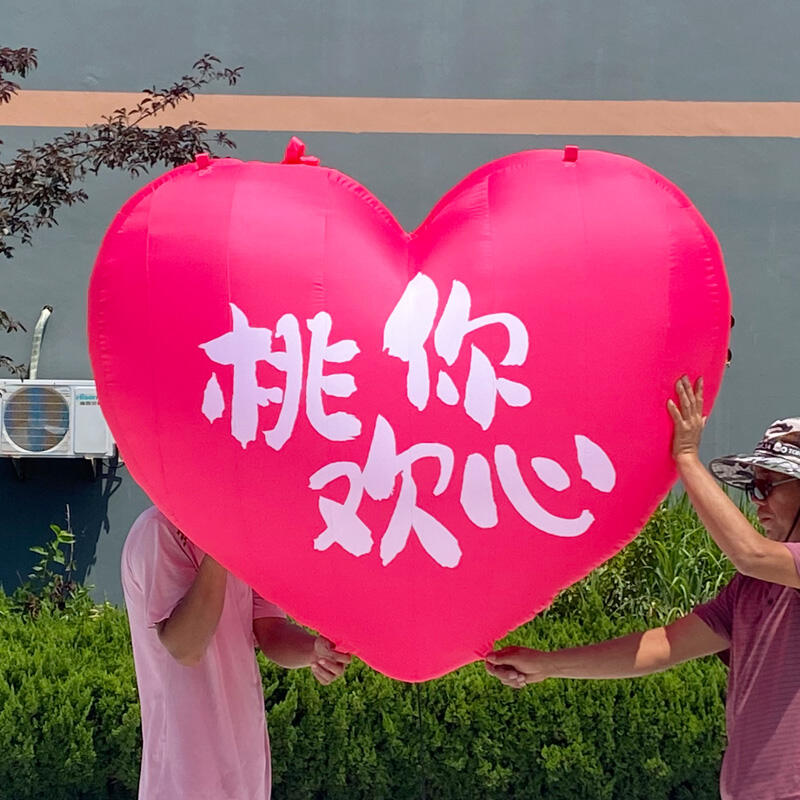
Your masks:
<svg viewBox="0 0 800 800"><path fill-rule="evenodd" d="M156 508L136 520L122 551L142 708L139 798L268 800L269 739L253 620L283 612L229 574L222 616L199 664L179 664L156 632L191 587L203 556Z"/></svg>

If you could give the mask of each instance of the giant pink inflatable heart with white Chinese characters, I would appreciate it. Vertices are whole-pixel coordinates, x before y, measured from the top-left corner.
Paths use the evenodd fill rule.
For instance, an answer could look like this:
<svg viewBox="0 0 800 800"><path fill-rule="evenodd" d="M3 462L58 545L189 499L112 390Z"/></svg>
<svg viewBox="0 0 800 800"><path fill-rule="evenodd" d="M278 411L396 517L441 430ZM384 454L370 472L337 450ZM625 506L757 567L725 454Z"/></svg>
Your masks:
<svg viewBox="0 0 800 800"><path fill-rule="evenodd" d="M730 313L681 191L575 148L481 167L412 234L335 170L198 159L116 216L89 312L152 500L412 681L635 536L675 478L665 401L688 372L710 407Z"/></svg>

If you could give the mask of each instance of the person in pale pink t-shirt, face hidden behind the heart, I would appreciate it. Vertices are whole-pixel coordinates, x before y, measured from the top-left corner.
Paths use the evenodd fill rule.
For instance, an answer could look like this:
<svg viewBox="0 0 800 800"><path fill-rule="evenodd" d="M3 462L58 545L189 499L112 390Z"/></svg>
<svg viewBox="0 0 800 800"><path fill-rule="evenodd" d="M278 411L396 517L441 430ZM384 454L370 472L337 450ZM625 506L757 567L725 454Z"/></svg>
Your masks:
<svg viewBox="0 0 800 800"><path fill-rule="evenodd" d="M290 623L156 508L128 534L122 587L142 710L140 800L268 800L255 646L322 684L350 656Z"/></svg>

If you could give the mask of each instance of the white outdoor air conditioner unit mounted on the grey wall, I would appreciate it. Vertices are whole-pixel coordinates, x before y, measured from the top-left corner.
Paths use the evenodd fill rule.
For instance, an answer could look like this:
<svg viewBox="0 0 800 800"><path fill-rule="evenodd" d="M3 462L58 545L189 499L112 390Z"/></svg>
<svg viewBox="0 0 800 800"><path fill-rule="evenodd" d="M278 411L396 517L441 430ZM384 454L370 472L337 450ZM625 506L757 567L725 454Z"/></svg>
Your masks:
<svg viewBox="0 0 800 800"><path fill-rule="evenodd" d="M0 379L0 456L115 455L94 381Z"/></svg>

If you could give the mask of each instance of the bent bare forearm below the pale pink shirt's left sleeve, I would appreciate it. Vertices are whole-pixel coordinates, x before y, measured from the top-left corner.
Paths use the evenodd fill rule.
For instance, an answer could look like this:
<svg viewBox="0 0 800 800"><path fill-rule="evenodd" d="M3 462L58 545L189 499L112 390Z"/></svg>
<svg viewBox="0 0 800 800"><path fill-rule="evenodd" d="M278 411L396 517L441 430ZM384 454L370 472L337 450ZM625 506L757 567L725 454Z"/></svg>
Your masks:
<svg viewBox="0 0 800 800"><path fill-rule="evenodd" d="M202 659L217 630L225 603L227 575L224 567L206 556L189 591L169 619L159 625L161 643L185 666Z"/></svg>

